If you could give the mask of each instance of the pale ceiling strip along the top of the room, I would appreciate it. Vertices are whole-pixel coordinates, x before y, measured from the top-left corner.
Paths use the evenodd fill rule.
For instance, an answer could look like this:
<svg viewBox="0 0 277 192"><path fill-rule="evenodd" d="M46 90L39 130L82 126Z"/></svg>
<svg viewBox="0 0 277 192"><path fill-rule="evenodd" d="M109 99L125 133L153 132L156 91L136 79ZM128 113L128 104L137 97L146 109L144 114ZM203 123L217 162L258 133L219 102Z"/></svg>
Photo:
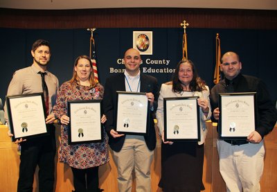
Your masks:
<svg viewBox="0 0 277 192"><path fill-rule="evenodd" d="M0 0L0 8L232 8L277 10L277 0Z"/></svg>

